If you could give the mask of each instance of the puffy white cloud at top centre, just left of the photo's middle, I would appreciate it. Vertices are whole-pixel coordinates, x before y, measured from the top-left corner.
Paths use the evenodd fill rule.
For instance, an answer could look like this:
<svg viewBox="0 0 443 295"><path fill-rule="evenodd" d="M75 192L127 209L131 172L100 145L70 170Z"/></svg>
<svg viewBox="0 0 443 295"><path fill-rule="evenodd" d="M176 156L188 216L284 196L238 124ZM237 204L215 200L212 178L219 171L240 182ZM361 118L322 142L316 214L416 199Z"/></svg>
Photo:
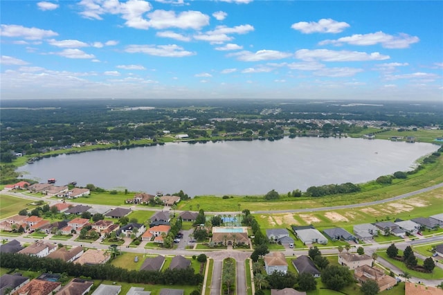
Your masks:
<svg viewBox="0 0 443 295"><path fill-rule="evenodd" d="M152 28L192 28L200 30L209 24L208 15L204 15L199 11L183 11L176 15L174 11L155 10L149 15L150 20L148 26Z"/></svg>

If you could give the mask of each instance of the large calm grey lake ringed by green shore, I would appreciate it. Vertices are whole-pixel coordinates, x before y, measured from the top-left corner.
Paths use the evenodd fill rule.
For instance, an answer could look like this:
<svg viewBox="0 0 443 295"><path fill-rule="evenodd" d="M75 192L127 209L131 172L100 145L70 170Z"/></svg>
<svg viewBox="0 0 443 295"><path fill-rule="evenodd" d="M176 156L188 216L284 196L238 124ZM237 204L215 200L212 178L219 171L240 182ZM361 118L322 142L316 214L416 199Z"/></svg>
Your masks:
<svg viewBox="0 0 443 295"><path fill-rule="evenodd" d="M439 145L361 138L285 137L279 141L167 143L129 150L62 154L18 170L57 185L188 195L264 195L323 184L363 183L412 170Z"/></svg>

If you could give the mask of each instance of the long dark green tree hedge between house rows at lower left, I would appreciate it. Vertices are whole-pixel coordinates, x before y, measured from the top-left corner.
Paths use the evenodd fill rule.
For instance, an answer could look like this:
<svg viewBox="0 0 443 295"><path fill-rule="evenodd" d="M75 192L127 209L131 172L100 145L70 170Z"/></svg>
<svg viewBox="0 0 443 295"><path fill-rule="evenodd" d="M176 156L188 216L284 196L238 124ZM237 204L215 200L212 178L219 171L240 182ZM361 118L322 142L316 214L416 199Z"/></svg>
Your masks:
<svg viewBox="0 0 443 295"><path fill-rule="evenodd" d="M0 267L7 269L24 269L30 271L52 271L66 273L68 276L84 276L93 280L116 280L125 283L145 283L158 285L192 285L203 282L201 274L188 269L165 269L164 271L138 271L104 265L79 265L58 259L39 258L18 253L1 253Z"/></svg>

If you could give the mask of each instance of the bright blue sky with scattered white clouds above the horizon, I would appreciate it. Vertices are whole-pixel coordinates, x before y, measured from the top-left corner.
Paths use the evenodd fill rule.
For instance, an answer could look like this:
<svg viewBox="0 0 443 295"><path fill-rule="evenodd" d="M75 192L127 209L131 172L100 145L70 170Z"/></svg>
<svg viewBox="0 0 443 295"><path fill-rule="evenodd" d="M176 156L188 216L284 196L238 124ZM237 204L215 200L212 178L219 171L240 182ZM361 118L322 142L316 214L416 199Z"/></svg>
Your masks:
<svg viewBox="0 0 443 295"><path fill-rule="evenodd" d="M443 101L443 1L1 1L1 98Z"/></svg>

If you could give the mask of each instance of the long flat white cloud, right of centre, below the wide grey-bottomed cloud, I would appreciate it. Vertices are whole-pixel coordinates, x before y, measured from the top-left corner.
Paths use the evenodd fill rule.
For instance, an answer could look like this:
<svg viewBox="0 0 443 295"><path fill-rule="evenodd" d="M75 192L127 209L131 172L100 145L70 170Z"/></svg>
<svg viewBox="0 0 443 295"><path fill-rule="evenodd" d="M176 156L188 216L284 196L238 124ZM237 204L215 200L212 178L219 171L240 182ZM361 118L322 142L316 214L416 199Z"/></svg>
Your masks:
<svg viewBox="0 0 443 295"><path fill-rule="evenodd" d="M363 62L368 60L388 60L389 55L378 52L365 53L359 51L332 51L328 49L300 49L296 58L305 61L323 60L325 62Z"/></svg>

